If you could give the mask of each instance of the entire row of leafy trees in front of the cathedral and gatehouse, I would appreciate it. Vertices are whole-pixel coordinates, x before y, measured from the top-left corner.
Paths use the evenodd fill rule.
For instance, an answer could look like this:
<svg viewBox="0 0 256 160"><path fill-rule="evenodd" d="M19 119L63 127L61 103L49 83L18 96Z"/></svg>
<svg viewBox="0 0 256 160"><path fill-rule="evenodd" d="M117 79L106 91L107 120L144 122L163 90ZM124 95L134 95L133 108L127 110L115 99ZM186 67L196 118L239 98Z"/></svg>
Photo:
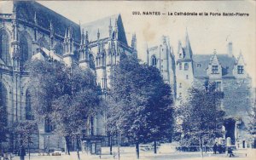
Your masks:
<svg viewBox="0 0 256 160"><path fill-rule="evenodd" d="M191 89L188 100L175 110L171 88L164 83L160 71L141 64L136 57L126 57L113 66L107 101L102 99L95 73L90 69L43 60L33 60L27 69L35 123L47 119L53 133L66 140L67 154L70 140L79 142L89 129L88 119L102 111L107 111L108 135L124 137L134 144L137 158L140 144L154 142L156 153L157 141L171 141L172 129L177 127L190 145L202 147L220 135L224 119L224 111L219 110L222 93ZM177 118L182 120L174 126ZM38 130L31 122L16 125L20 126L16 133L26 140L29 136L25 134ZM20 144L27 144L26 140L20 140Z"/></svg>

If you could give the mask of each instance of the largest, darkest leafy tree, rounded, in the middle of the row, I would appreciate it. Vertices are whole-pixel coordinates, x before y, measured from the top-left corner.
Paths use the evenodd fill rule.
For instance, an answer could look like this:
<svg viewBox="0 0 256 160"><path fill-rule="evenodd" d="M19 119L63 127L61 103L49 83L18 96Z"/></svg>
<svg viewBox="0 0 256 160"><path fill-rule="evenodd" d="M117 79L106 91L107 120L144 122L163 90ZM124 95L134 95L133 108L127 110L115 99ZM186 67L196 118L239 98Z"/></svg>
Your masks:
<svg viewBox="0 0 256 160"><path fill-rule="evenodd" d="M141 65L136 57L122 60L115 66L110 77L108 92L108 132L121 135L136 145L171 140L172 94L164 83L160 71Z"/></svg>

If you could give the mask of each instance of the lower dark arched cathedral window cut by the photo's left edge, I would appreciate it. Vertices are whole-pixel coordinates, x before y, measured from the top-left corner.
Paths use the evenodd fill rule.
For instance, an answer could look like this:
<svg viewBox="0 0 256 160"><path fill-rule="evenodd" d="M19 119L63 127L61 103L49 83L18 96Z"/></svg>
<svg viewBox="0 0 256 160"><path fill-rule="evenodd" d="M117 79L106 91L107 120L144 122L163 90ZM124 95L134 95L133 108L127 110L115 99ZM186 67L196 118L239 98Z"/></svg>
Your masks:
<svg viewBox="0 0 256 160"><path fill-rule="evenodd" d="M0 123L7 126L7 89L0 82Z"/></svg>

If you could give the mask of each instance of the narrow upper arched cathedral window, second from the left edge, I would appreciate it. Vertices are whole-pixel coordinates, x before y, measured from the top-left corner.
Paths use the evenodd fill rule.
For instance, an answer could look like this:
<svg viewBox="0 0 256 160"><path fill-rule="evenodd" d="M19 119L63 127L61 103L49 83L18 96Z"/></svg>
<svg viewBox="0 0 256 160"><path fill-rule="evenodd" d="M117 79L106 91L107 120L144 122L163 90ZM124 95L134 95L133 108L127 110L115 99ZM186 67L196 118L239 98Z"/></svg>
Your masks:
<svg viewBox="0 0 256 160"><path fill-rule="evenodd" d="M20 37L20 66L23 66L28 60L28 43L25 36Z"/></svg>

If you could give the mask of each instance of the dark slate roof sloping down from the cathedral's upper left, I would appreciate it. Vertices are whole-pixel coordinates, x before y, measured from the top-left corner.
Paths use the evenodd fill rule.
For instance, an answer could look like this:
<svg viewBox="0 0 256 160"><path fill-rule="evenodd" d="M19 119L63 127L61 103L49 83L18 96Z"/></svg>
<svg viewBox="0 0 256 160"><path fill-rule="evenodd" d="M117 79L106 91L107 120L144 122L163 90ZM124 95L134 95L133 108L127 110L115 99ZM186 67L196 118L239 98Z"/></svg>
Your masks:
<svg viewBox="0 0 256 160"><path fill-rule="evenodd" d="M37 13L38 26L42 26L49 30L50 20L54 27L56 34L65 36L65 30L69 26L73 28L73 38L79 43L80 42L80 26L68 20L61 14L57 14L55 11L44 7L44 5L33 1L16 1L16 14L18 19L23 19L28 22L34 22L35 12Z"/></svg>

